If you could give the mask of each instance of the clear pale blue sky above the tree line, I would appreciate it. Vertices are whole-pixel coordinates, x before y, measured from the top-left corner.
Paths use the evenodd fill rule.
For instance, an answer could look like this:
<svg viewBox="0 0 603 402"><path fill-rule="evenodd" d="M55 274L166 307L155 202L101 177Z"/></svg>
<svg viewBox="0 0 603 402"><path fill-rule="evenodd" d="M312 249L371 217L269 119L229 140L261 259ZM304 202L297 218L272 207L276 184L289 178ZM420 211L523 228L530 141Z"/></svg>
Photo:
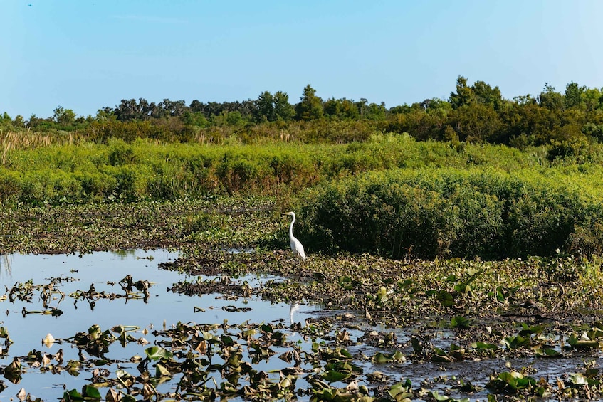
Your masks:
<svg viewBox="0 0 603 402"><path fill-rule="evenodd" d="M603 87L600 0L0 0L0 113L96 115L122 99L257 99L305 85L387 107Z"/></svg>

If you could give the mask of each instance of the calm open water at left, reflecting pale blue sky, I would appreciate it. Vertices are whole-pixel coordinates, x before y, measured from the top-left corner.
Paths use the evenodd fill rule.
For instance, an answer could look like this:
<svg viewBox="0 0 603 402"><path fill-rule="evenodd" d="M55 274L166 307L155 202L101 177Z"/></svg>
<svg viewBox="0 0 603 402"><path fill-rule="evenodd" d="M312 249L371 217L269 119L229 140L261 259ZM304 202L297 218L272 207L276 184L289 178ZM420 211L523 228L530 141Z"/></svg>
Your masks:
<svg viewBox="0 0 603 402"><path fill-rule="evenodd" d="M290 306L271 304L255 297L248 299L224 300L220 295L186 296L169 292L167 289L179 281L194 282L197 277L157 268L159 263L167 263L178 257L178 253L167 250L129 250L120 253L92 253L87 255L4 255L0 257L0 295L8 295L16 282L33 280L34 285L45 285L50 278L63 277L65 280L58 285L65 294L54 295L48 302L48 308L55 307L63 311L58 317L43 314L26 314L28 311L41 311L43 302L40 291L34 290L31 302L8 299L0 302L0 326L9 333L14 341L9 347L9 353L0 356L0 365L11 363L14 356L26 356L33 349L55 354L63 349L65 362L78 359L77 349L69 343L53 344L50 348L42 344L46 334L52 334L55 339L73 337L78 332L87 332L93 324L98 324L105 331L116 325L137 326L138 332L134 337L144 337L151 344L142 346L135 343L122 348L119 342L113 342L109 347L108 359L129 359L136 354L144 356L144 350L154 342L151 332L153 329L170 328L178 322L194 322L196 324L221 324L228 320L229 324L249 322L278 322L283 320L289 324ZM147 302L141 299L117 298L114 300L100 299L90 305L86 300L69 297L77 290L87 291L93 284L97 292L124 294L119 283L126 275L134 280L147 280L152 283L149 288L150 297ZM70 280L71 278L75 280ZM69 279L69 280L67 280ZM202 278L206 279L206 278ZM266 276L248 276L240 278L251 285L254 282L275 279ZM236 280L235 278L233 280ZM8 290L6 288L8 288ZM248 307L247 312L227 312L222 307ZM203 311L200 311L202 309ZM312 307L302 306L296 312L296 320L303 320L303 314L308 314ZM308 317L308 315L306 316ZM149 333L143 334L147 329ZM4 343L2 343L4 345ZM93 357L92 357L93 358ZM94 359L94 358L93 358ZM56 362L53 361L53 364ZM130 365L132 374L136 374L135 364ZM63 395L63 388L81 390L90 374L83 371L79 376L72 376L67 371L60 374L41 373L38 369L28 368L19 384L11 384L4 379L8 386L0 393L0 401L8 400L25 388L32 396L44 399L56 399ZM105 391L101 391L104 396Z"/></svg>

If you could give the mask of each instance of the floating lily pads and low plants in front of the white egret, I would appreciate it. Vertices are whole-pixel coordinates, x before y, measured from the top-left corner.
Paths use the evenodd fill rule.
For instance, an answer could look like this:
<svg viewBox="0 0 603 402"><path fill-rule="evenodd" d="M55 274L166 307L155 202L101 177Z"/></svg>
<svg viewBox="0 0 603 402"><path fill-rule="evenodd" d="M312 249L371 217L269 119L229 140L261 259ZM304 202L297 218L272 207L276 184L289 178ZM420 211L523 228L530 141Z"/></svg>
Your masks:
<svg viewBox="0 0 603 402"><path fill-rule="evenodd" d="M211 255L196 254L162 264L177 271L192 266L201 274L169 290L186 288L196 297L212 295L216 301L224 300L219 307L223 314L250 312L246 300L260 296L272 302L321 302L332 309L356 300L365 308L332 310L301 322L231 324L224 316L215 323L177 322L164 328L93 324L67 337L47 334L43 345L58 345L58 351L32 348L19 356L9 355L14 340L9 329L1 327L3 351L11 356L0 365L1 375L11 384L21 384L32 375L66 373L75 378L88 373L80 386L61 391L63 401L465 401L488 395L507 400L603 396L603 376L595 363L603 349L603 323L594 314L582 314L580 320L575 313L562 317L552 309L555 301L547 300L544 287L537 287L538 310L527 301L520 302L535 299L536 294L533 288L515 285L519 279L513 280L513 274L523 273L521 281L532 286L532 281L538 283L543 260L508 261L512 268L505 270L503 263L404 263L367 255L315 255L299 266L292 259L283 260L283 255L258 251L220 256L213 265L206 265L211 266L207 273L222 270L223 274L204 276L198 270L199 261ZM247 274L229 275L231 269L221 269L235 265L237 272L244 268ZM259 273L285 275L293 268L295 276L289 279ZM46 282L14 282L6 287L6 302L46 305L51 310L66 300L73 305L83 300L146 300L159 290L140 274L105 282L103 290L95 284L80 289L82 281L77 280L78 273L73 275ZM477 280L478 275L487 282ZM65 285L78 290L68 292ZM575 296L570 284L565 283L564 290ZM556 302L572 306L571 300ZM204 305L196 311L208 309ZM397 321L391 320L393 314Z"/></svg>

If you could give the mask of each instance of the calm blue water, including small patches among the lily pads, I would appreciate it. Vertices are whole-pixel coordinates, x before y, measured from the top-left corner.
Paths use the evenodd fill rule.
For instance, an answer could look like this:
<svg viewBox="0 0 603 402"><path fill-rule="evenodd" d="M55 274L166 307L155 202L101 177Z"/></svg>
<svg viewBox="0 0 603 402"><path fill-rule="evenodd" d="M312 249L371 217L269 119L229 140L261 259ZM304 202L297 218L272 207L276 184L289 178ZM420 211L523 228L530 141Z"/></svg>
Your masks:
<svg viewBox="0 0 603 402"><path fill-rule="evenodd" d="M152 335L153 329L171 328L178 322L196 323L196 324L221 324L227 320L229 324L241 324L243 322L283 322L290 324L290 305L271 304L258 300L255 297L234 300L226 300L222 295L201 295L189 297L169 292L169 287L179 281L187 280L194 282L198 278L190 277L174 271L161 270L159 263L167 263L175 260L178 253L167 250L130 250L120 253L93 253L83 256L78 255L9 255L0 256L0 296L7 295L11 287L16 282L26 282L33 280L33 284L44 285L50 282L50 278L62 277L64 280L59 286L65 294L63 299L55 295L53 300L48 301L48 308L55 307L63 311L58 317L43 314L26 314L23 316L23 307L28 311L45 310L40 298L40 291L34 290L30 302L15 300L10 302L4 299L0 302L0 327L4 327L9 333L9 337L14 341L9 351L0 355L0 366L6 366L11 363L15 356L26 356L29 351L36 349L48 354L56 354L59 349L63 349L65 359L63 366L69 360L78 360L78 349L65 342L63 344L55 343L51 347L46 347L42 339L50 333L56 339L65 339L73 337L78 332L87 332L93 324L98 324L105 331L116 325L140 327L132 336L135 338L144 337L150 344L141 345L131 342L122 347L119 342L113 342L106 354L108 359L120 360L118 364L105 366L110 371L115 371L117 367L123 368L130 374L137 375L136 363L130 363L127 359L135 355L144 356L145 349L150 347L156 340ZM134 280L147 280L152 282L149 289L150 297L145 302L141 299L117 298L115 300L100 299L91 305L85 300L75 300L69 295L77 290L86 291L90 285L94 285L97 292L123 294L118 282L126 275L131 275ZM73 281L71 280L73 278ZM201 280L212 279L202 277ZM266 280L279 280L276 277L262 275L248 275L233 280L248 281L253 287ZM6 287L6 288L5 288ZM248 307L251 310L246 312L229 312L223 310L223 307ZM201 311L202 310L202 311ZM320 312L317 307L301 305L295 310L293 320L295 322L304 322L309 317L320 317L322 314L333 314L333 312ZM350 329L350 338L357 339L365 331L376 329L382 332L389 332L392 329L382 327L370 328L359 319L359 330ZM147 334L143 330L149 331ZM413 329L395 329L400 344L407 344ZM288 332L288 339L293 342L299 342L302 349L309 349L311 340L303 339L295 332ZM163 338L162 338L163 339ZM320 341L320 339L318 339ZM441 343L441 347L454 343L451 334L442 332L441 339L438 337L431 339L436 345ZM1 346L4 347L4 340L0 339ZM278 354L283 350L274 348ZM354 344L347 348L352 354L373 356L380 351L379 348L370 347L365 344ZM407 346L406 349L409 349ZM411 354L411 351L405 351ZM93 356L84 356L89 359L95 359ZM432 389L444 389L453 385L456 380L446 381L446 384L439 384L442 378L463 379L471 381L483 387L488 380L488 374L493 371L507 371L505 364L512 364L515 369L522 366L531 366L534 369L536 378L541 376L555 379L567 372L580 372L583 369L584 361L593 359L592 356L580 357L574 356L569 359L492 359L484 361L463 361L458 363L440 364L426 361L421 364L413 364L412 361L404 361L399 364L371 364L364 360L359 364L364 367L365 374L372 371L382 371L393 381L404 381L411 379L414 388L421 384L421 381L429 379ZM601 356L595 356L598 364L602 364ZM53 361L56 364L56 361ZM261 361L254 368L258 370L281 369L289 366L284 361L273 357L270 361ZM0 393L0 401L16 401L16 393L24 388L27 393L37 398L43 398L48 401L55 401L61 398L63 390L77 389L81 390L83 384L89 384L91 374L89 371L81 370L77 376L69 374L63 370L58 374L43 373L40 369L31 368L28 364L23 364L23 376L19 384L12 384L3 379L7 388ZM219 382L220 379L217 379ZM362 378L360 379L362 383ZM369 385L369 384L367 384ZM374 385L374 384L373 384ZM298 386L301 388L308 386L303 379L298 379ZM338 384L337 386L345 386ZM174 381L162 385L159 391L167 392L174 388ZM105 395L106 388L101 388L101 395ZM467 394L455 392L456 397L467 397ZM471 400L485 400L488 395L486 388L481 388L477 393L469 396ZM307 398L306 398L307 399ZM300 398L301 400L306 400Z"/></svg>

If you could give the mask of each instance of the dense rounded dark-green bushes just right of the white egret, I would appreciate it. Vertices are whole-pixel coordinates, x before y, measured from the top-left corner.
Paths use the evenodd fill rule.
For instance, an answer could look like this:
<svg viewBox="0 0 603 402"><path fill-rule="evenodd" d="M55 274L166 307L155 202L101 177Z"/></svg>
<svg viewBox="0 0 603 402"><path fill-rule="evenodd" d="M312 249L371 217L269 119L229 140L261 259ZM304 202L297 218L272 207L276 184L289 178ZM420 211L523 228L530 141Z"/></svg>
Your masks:
<svg viewBox="0 0 603 402"><path fill-rule="evenodd" d="M559 176L533 169L369 172L308 191L298 233L310 249L394 258L601 250L602 199L578 196Z"/></svg>

